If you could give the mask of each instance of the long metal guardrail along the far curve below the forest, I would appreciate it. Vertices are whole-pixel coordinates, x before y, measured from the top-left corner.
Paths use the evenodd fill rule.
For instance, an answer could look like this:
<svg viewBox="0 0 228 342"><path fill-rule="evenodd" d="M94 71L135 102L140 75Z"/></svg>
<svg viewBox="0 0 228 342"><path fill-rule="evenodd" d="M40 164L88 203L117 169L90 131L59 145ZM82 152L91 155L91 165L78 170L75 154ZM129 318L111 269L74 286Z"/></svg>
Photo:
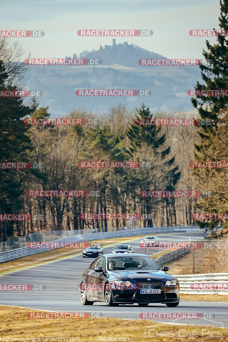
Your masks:
<svg viewBox="0 0 228 342"><path fill-rule="evenodd" d="M137 229L129 229L115 232L104 232L104 233L92 233L92 234L83 234L83 235L75 235L64 239L54 240L52 242L83 242L83 241L92 241L92 240L100 240L100 239L111 239L115 237L128 237L133 235L141 235L141 234L158 234L158 233L182 233L182 232L200 232L200 228L198 226L188 226L188 227L154 227L154 228L137 228ZM45 242L45 241L40 241ZM49 242L49 241L46 241ZM55 248L42 248L42 249L30 249L28 247L18 248L11 251L6 251L0 253L0 262L21 258L25 255L31 255L36 253L42 253L46 251L53 250ZM77 251L77 250L76 250ZM75 251L75 252L76 252Z"/></svg>

